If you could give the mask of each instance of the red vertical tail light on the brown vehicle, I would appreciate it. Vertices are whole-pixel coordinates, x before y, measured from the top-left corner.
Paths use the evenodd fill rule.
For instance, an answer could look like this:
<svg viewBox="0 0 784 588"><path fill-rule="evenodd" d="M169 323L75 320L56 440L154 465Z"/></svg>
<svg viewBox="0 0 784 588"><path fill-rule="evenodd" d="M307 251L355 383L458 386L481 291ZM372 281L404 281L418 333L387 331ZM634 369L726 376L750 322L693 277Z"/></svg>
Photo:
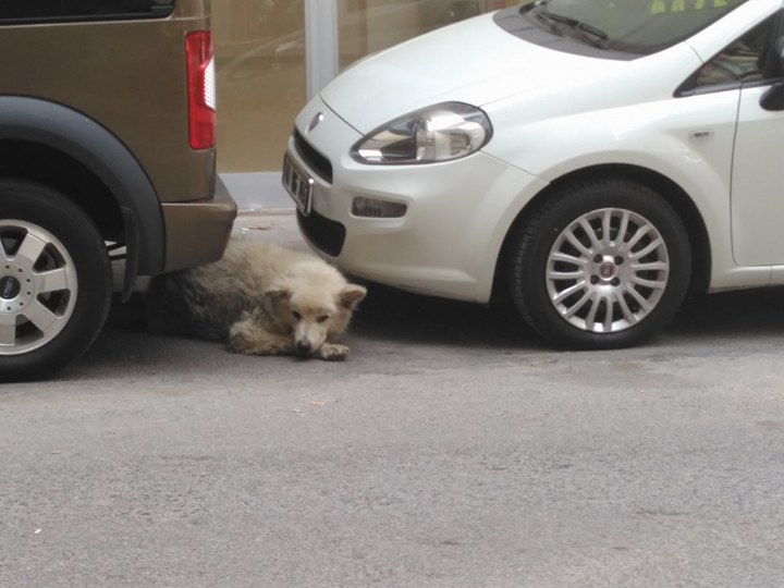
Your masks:
<svg viewBox="0 0 784 588"><path fill-rule="evenodd" d="M185 59L191 148L210 149L216 144L216 78L209 30L197 30L185 37Z"/></svg>

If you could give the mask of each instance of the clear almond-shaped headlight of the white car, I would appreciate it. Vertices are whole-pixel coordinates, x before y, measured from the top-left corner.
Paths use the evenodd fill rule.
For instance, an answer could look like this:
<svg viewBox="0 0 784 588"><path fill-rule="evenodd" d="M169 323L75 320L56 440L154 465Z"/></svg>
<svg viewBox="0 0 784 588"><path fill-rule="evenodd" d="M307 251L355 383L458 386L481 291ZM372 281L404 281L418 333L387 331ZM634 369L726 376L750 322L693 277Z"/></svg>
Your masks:
<svg viewBox="0 0 784 588"><path fill-rule="evenodd" d="M492 136L487 114L462 102L444 102L395 119L352 148L363 163L450 161L481 149Z"/></svg>

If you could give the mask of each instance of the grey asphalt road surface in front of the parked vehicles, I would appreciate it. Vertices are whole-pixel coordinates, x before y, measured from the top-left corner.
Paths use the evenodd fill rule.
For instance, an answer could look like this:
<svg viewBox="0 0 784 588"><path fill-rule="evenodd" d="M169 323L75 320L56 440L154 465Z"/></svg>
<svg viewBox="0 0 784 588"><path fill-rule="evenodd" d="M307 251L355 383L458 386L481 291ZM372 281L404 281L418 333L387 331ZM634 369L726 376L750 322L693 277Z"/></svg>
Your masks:
<svg viewBox="0 0 784 588"><path fill-rule="evenodd" d="M371 287L336 364L118 306L60 379L0 387L0 586L784 586L783 297L563 353Z"/></svg>

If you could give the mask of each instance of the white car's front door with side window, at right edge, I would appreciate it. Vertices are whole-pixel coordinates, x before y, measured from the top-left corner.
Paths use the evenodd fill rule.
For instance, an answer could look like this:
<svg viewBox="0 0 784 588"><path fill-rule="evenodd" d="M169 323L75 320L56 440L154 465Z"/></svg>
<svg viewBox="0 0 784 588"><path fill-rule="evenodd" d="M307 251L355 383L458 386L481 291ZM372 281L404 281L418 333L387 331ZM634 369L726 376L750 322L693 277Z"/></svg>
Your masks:
<svg viewBox="0 0 784 588"><path fill-rule="evenodd" d="M765 95L781 91L772 89L781 83L782 57L776 54L781 53L781 16L776 15L725 52L735 66L742 63L742 57L748 58L738 105L731 188L733 254L735 261L745 267L784 264L784 108L762 105Z"/></svg>

